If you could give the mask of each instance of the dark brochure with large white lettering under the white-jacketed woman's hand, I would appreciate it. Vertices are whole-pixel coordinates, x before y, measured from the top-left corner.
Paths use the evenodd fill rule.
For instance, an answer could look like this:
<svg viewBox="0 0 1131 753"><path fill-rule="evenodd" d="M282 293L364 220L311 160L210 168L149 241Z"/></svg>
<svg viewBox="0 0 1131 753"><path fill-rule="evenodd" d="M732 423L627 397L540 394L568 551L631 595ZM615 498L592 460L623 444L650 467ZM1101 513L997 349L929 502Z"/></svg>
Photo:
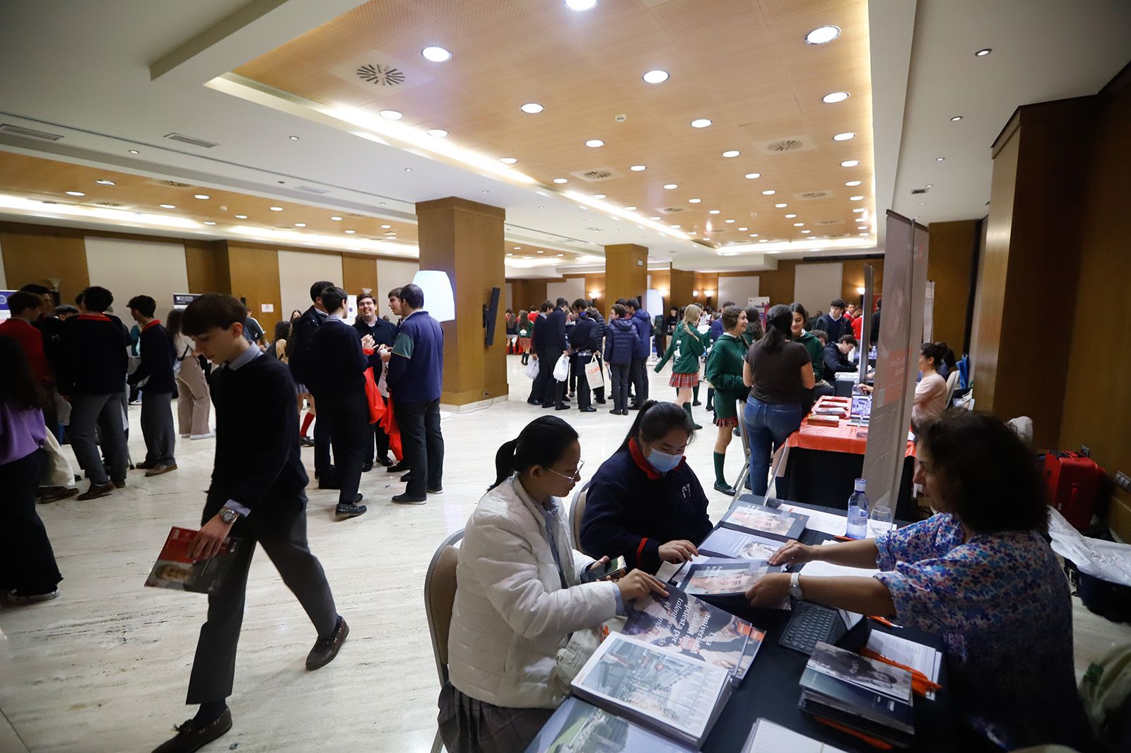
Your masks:
<svg viewBox="0 0 1131 753"><path fill-rule="evenodd" d="M735 684L746 676L766 638L745 620L674 588L667 597L654 594L628 608L624 635L724 667Z"/></svg>

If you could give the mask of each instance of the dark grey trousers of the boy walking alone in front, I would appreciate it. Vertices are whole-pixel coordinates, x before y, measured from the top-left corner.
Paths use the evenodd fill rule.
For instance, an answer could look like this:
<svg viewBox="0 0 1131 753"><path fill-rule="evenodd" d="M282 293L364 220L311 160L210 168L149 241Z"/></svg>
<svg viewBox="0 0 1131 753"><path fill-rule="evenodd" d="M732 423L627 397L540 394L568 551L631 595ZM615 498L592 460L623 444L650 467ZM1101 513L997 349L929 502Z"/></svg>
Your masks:
<svg viewBox="0 0 1131 753"><path fill-rule="evenodd" d="M224 502L221 499L210 500L205 505L201 523L210 520ZM208 621L200 628L185 703L222 701L232 694L248 570L257 542L262 545L283 582L297 597L318 635L331 634L338 624L330 585L326 582L321 563L307 545L307 496L301 491L286 497L260 501L254 512L235 521L232 536L243 539L243 547L236 553L219 588L208 595Z"/></svg>

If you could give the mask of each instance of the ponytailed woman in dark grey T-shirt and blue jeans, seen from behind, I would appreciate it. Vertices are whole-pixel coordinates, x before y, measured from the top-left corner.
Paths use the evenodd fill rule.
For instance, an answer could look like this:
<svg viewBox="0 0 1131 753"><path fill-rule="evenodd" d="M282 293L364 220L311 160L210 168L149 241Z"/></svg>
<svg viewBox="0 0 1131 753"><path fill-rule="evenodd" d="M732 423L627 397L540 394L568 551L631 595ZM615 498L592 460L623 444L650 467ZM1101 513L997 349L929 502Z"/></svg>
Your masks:
<svg viewBox="0 0 1131 753"><path fill-rule="evenodd" d="M797 304L794 304L797 305ZM797 431L817 382L809 350L794 336L795 311L778 304L766 315L766 335L750 346L742 381L750 387L743 419L750 438L750 488L765 495L770 452Z"/></svg>

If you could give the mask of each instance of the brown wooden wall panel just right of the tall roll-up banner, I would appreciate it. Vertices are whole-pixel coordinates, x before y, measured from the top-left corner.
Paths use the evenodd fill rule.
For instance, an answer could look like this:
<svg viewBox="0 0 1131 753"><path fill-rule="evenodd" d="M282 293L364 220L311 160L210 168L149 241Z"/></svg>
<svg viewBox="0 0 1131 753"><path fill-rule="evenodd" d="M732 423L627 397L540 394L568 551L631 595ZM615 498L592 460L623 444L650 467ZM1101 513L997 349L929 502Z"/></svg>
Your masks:
<svg viewBox="0 0 1131 753"><path fill-rule="evenodd" d="M959 358L966 335L970 265L977 234L976 219L931 223L926 277L934 282L934 341L949 345Z"/></svg>

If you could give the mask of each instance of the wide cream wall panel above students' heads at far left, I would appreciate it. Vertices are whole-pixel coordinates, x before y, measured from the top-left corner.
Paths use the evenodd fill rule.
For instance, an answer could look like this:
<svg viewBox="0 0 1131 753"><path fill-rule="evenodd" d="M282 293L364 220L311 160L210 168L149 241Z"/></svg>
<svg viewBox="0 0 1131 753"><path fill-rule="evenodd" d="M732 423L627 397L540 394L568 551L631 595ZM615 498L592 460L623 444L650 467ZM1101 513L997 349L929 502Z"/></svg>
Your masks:
<svg viewBox="0 0 1131 753"><path fill-rule="evenodd" d="M189 292L183 243L116 237L87 237L85 243L90 285L110 288L114 312L127 324L131 322L126 302L135 295L152 295L157 318L164 319L173 308L173 293Z"/></svg>

